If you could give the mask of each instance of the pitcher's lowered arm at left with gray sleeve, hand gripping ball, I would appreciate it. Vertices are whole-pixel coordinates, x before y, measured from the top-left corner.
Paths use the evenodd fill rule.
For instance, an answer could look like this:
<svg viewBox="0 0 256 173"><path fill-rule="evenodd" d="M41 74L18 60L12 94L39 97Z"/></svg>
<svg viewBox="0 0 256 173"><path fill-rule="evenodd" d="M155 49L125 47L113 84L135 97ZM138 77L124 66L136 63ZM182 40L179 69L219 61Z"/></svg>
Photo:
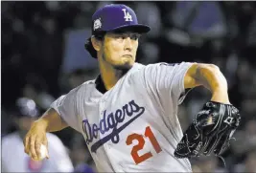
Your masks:
<svg viewBox="0 0 256 173"><path fill-rule="evenodd" d="M47 132L56 132L71 126L77 131L80 129L79 115L77 115L77 94L80 87L71 90L68 94L58 97L48 111L32 124L24 138L25 153L33 160L40 160L40 146L44 144L48 151ZM49 153L48 157L49 158Z"/></svg>

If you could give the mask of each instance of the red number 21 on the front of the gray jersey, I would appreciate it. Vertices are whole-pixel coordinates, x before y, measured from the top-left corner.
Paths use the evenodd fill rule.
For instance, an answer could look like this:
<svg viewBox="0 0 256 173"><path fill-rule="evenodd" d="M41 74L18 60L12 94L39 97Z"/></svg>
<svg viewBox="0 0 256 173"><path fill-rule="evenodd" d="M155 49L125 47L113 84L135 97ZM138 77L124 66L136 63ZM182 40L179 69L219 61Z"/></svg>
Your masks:
<svg viewBox="0 0 256 173"><path fill-rule="evenodd" d="M151 131L151 127L148 126L146 127L146 130L145 130L145 136L148 137L151 141L151 144L155 150L156 153L160 153L162 151L158 141L156 141L152 131ZM138 141L138 144L133 146L132 147L132 150L130 152L134 162L136 164L140 163L140 162L144 162L145 160L148 160L149 158L152 157L152 154L151 152L148 152L148 153L145 153L141 156L138 155L138 151L143 149L144 147L144 144L145 144L145 140L143 138L142 135L139 135L139 134L131 134L128 136L128 139L127 139L127 144L130 145L132 143L133 140L137 140Z"/></svg>

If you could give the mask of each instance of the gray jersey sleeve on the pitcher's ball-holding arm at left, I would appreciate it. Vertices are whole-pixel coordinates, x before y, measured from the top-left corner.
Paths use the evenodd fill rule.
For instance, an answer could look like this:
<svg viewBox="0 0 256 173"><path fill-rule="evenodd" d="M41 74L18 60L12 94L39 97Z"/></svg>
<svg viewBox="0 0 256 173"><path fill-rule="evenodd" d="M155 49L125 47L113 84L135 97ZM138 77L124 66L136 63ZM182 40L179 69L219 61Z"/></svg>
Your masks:
<svg viewBox="0 0 256 173"><path fill-rule="evenodd" d="M68 94L58 97L50 107L55 109L61 119L63 119L70 127L81 132L79 115L77 113L78 90L79 88L75 88Z"/></svg>

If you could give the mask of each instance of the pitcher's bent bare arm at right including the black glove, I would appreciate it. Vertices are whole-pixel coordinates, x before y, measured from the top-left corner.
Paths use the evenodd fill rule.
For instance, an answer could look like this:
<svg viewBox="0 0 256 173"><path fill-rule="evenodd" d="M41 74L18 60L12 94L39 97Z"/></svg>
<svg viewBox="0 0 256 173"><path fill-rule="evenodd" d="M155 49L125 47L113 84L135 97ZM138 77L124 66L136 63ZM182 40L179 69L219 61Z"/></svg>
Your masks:
<svg viewBox="0 0 256 173"><path fill-rule="evenodd" d="M230 104L227 81L216 65L196 63L188 69L184 88L199 85L211 91L211 101L202 106L183 133L175 148L176 158L208 156L211 153L220 156L240 125L239 110Z"/></svg>

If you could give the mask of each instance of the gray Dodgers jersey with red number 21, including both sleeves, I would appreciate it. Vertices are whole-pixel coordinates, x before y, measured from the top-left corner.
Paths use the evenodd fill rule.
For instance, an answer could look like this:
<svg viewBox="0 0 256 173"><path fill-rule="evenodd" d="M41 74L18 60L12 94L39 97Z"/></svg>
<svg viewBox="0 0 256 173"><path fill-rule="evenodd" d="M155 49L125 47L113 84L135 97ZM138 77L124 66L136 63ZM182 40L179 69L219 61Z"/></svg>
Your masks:
<svg viewBox="0 0 256 173"><path fill-rule="evenodd" d="M100 172L191 172L187 159L174 157L182 138L177 108L191 65L135 63L105 94L90 80L51 107L81 132Z"/></svg>

